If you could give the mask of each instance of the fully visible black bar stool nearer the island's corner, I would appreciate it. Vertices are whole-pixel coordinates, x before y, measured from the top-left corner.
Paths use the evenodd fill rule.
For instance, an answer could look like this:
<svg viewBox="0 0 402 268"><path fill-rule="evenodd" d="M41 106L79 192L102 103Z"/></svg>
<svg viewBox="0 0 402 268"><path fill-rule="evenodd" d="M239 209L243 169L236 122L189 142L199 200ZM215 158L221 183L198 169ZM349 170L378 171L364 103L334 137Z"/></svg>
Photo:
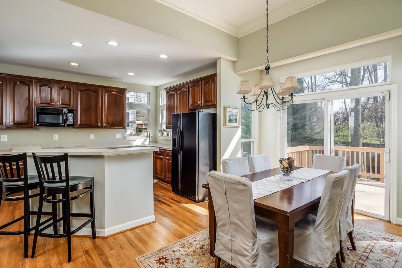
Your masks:
<svg viewBox="0 0 402 268"><path fill-rule="evenodd" d="M41 237L51 238L67 237L68 262L71 262L71 235L75 234L90 223L92 227L92 239L96 239L95 202L93 196L94 177L69 176L68 155L66 153L64 155L50 157L39 157L35 153L33 153L32 156L34 158L36 171L38 172L40 190L38 217L36 219L37 223L39 223L41 219L43 202L51 204L62 203L62 217L57 219L56 221L53 221L50 224L45 225L41 229L39 229L39 225L36 225L31 257L35 257L35 249L38 235ZM61 168L62 163L64 163L64 176L62 174ZM55 171L57 171L57 173ZM70 193L83 189L87 191L70 196ZM70 201L81 198L87 194L90 195L90 213L70 212ZM55 214L57 215L57 207L52 206L52 208L53 210L56 209ZM89 220L84 222L75 230L71 230L71 217L84 217L89 218ZM44 231L51 226L57 229L57 223L60 221L63 221L62 234L58 234L56 231L53 234L44 233Z"/></svg>

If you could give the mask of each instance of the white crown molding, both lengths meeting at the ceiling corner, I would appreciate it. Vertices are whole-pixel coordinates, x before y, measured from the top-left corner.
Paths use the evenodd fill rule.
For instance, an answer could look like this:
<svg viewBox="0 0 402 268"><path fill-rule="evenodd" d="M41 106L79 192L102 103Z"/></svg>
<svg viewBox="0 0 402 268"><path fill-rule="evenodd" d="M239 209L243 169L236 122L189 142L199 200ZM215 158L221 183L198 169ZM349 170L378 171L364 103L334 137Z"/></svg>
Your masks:
<svg viewBox="0 0 402 268"><path fill-rule="evenodd" d="M248 35L252 32L265 28L266 25L265 15L249 23L246 23L245 25L238 27L237 25L220 18L210 13L209 11L198 8L195 5L188 3L185 0L155 0L155 1L236 37L242 37ZM291 3L270 12L269 24L283 20L289 16L304 11L324 1L326 0L294 0Z"/></svg>

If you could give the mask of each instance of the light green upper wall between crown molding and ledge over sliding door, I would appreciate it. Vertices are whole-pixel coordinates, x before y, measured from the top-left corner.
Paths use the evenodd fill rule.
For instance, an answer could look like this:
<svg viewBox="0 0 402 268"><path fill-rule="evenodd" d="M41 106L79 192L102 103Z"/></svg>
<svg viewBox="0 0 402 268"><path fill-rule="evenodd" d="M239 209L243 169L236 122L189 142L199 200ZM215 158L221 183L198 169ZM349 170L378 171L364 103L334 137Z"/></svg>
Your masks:
<svg viewBox="0 0 402 268"><path fill-rule="evenodd" d="M402 27L400 0L327 0L269 27L269 59L276 62ZM265 65L266 30L239 40L235 71Z"/></svg>

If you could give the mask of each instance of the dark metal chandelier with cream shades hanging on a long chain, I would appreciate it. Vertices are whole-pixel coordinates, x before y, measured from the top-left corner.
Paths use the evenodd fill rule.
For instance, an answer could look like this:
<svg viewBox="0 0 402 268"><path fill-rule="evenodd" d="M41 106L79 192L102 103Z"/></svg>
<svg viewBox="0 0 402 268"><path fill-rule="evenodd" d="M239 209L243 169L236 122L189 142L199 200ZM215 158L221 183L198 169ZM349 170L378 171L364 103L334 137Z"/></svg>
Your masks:
<svg viewBox="0 0 402 268"><path fill-rule="evenodd" d="M268 24L268 0L267 0L267 60L265 62L265 75L262 77L261 84L255 85L251 90L248 81L241 81L240 88L237 94L243 94L241 98L244 104L255 104L255 108L253 106L251 108L246 107L250 111L263 111L264 108L269 109L271 106L277 110L285 110L288 109L293 104L293 91L300 88L300 85L297 82L295 76L289 76L286 78L284 83L281 83L279 86L279 91L276 92L274 88L274 84L272 82L271 76L269 75L269 70L271 67L269 66L269 24ZM254 101L246 101L248 98L246 94L249 96L255 97ZM271 97L268 97L272 95Z"/></svg>

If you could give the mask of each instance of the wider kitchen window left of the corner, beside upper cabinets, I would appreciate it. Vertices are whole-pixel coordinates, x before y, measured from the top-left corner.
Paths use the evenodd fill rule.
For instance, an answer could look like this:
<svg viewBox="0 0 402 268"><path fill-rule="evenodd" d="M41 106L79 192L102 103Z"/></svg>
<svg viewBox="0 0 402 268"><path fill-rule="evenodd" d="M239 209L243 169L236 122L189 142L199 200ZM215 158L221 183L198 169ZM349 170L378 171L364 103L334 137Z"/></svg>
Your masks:
<svg viewBox="0 0 402 268"><path fill-rule="evenodd" d="M138 136L149 127L149 93L128 91L126 95L126 136ZM140 134L141 133L141 134Z"/></svg>

